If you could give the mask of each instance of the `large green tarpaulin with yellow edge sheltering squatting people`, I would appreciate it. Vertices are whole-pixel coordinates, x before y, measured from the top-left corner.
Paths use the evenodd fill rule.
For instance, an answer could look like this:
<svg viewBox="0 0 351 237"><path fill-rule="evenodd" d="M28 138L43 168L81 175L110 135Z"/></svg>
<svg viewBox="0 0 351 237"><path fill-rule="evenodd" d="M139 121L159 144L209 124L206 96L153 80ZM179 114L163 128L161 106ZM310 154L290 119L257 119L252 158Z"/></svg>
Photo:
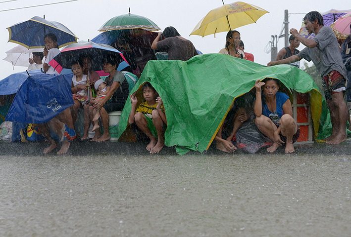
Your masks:
<svg viewBox="0 0 351 237"><path fill-rule="evenodd" d="M313 79L302 70L279 65L266 67L248 60L222 54L203 54L183 62L152 60L131 94L139 92L149 81L163 100L167 129L165 145L176 146L179 154L189 150L208 149L236 97L249 92L255 80L279 79L287 88L305 93L311 91L311 111L316 139L326 136L330 127L328 110ZM130 98L122 111L118 134L127 128L131 110ZM317 132L318 131L318 132Z"/></svg>

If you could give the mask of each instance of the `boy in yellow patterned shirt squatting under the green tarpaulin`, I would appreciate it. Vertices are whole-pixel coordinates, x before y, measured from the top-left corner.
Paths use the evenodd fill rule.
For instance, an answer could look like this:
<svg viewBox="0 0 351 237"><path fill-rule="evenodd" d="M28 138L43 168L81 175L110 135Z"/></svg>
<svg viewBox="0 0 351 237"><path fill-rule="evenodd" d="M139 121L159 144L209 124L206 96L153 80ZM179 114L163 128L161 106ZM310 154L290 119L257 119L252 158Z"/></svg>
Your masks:
<svg viewBox="0 0 351 237"><path fill-rule="evenodd" d="M163 125L167 124L164 107L161 98L150 82L146 82L143 85L143 96L146 101L142 102L138 108L136 108L138 99L135 93L130 96L132 109L129 114L128 123L132 124L135 122L142 132L150 138L150 143L146 149L150 151L151 154L159 153L164 146ZM156 132L157 143L155 137Z"/></svg>

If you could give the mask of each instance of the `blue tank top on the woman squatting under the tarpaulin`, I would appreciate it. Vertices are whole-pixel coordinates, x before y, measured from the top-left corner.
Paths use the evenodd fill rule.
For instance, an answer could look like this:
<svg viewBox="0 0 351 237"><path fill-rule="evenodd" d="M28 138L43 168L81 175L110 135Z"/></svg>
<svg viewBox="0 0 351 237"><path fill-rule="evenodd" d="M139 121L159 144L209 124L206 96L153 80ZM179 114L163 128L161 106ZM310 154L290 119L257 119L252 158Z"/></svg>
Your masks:
<svg viewBox="0 0 351 237"><path fill-rule="evenodd" d="M279 127L279 121L280 118L282 118L282 116L284 115L284 111L283 111L283 105L284 103L289 99L289 96L283 92L277 92L277 94L275 95L276 98L276 112L271 112L268 109L268 106L264 100L264 97L262 98L262 115L270 118L272 120L272 122Z"/></svg>

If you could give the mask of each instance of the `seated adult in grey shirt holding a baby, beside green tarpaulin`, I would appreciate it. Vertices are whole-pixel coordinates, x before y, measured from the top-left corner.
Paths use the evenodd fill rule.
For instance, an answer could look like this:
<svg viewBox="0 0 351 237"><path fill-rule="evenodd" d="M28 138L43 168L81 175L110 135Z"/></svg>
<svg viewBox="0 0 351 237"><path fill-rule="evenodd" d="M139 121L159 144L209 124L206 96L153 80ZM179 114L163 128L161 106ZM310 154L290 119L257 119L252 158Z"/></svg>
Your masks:
<svg viewBox="0 0 351 237"><path fill-rule="evenodd" d="M124 74L117 71L118 60L113 54L107 54L104 58L103 71L108 73L109 76L106 78L106 85L110 86L110 90L107 92L104 98L95 99L94 107L100 111L100 118L103 125L103 134L98 139L93 141L103 142L111 138L109 134L109 112L122 111L129 95L128 81L125 79ZM91 114L93 114L93 107L90 107ZM93 124L95 125L93 121ZM99 129L96 130L95 137L100 135Z"/></svg>

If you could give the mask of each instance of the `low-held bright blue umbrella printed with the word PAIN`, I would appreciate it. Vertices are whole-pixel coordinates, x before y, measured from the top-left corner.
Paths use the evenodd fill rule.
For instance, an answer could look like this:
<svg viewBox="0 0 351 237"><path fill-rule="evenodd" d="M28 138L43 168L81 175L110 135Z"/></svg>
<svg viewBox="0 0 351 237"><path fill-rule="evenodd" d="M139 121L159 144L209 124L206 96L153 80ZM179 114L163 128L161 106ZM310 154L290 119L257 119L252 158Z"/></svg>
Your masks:
<svg viewBox="0 0 351 237"><path fill-rule="evenodd" d="M28 76L18 89L6 120L45 123L73 105L72 75Z"/></svg>

